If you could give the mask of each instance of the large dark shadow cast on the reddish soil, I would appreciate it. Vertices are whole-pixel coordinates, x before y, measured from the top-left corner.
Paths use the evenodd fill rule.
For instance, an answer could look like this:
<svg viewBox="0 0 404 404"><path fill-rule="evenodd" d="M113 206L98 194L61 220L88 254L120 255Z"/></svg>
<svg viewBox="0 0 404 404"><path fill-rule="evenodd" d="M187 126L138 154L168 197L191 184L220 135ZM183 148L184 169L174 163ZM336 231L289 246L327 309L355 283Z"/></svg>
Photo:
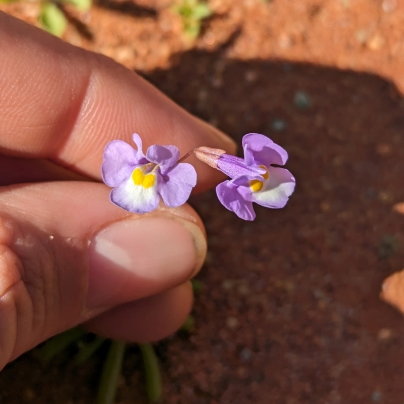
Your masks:
<svg viewBox="0 0 404 404"><path fill-rule="evenodd" d="M402 402L402 317L378 298L404 266L404 217L392 210L404 200L402 96L370 74L226 52L179 55L146 78L238 142L270 136L297 186L285 209L257 207L251 223L214 192L193 197L209 236L205 286L194 333L159 345L164 403ZM141 402L137 355L129 350L119 402ZM2 373L4 402L25 400L23 389L10 396L21 375L32 403L91 402L97 361L77 380L67 359L31 372L28 354Z"/></svg>

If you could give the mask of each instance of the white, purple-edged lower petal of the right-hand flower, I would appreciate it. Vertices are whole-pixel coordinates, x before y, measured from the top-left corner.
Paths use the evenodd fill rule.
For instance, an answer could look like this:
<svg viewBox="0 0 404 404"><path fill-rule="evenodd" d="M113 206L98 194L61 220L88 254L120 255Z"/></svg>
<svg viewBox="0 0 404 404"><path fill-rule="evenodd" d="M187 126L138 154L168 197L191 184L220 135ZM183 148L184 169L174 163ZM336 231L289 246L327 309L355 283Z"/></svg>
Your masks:
<svg viewBox="0 0 404 404"><path fill-rule="evenodd" d="M283 208L295 186L295 179L288 170L280 167L269 167L269 180L264 188L252 192L254 202L267 208Z"/></svg>

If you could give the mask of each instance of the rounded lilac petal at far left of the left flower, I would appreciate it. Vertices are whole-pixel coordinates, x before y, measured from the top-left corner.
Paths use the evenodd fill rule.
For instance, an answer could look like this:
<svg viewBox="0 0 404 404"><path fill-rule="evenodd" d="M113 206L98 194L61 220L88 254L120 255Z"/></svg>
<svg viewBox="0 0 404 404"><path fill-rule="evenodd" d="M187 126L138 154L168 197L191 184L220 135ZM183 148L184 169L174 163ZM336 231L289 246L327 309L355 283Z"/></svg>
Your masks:
<svg viewBox="0 0 404 404"><path fill-rule="evenodd" d="M109 186L117 186L126 180L139 164L136 150L122 140L108 143L101 166L103 181Z"/></svg>

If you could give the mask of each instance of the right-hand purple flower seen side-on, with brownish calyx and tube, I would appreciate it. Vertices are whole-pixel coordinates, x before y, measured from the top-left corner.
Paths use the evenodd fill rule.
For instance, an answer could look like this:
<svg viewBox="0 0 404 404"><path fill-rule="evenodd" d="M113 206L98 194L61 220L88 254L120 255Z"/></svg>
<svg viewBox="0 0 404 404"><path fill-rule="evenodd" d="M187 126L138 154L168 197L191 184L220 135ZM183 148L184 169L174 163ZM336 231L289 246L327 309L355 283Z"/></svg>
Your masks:
<svg viewBox="0 0 404 404"><path fill-rule="evenodd" d="M244 159L226 154L224 150L198 147L195 156L231 179L216 187L220 202L239 218L254 220L255 202L267 208L283 208L292 194L295 179L283 166L286 150L258 133L248 133L242 140Z"/></svg>

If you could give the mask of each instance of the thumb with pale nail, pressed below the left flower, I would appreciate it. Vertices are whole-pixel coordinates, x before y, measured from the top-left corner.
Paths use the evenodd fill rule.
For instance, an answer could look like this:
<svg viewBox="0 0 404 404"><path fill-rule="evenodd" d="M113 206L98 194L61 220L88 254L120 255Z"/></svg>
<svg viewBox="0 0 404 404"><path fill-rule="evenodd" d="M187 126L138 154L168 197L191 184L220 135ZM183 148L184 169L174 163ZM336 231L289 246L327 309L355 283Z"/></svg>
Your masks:
<svg viewBox="0 0 404 404"><path fill-rule="evenodd" d="M0 190L0 369L44 339L99 314L108 323L113 308L122 321L136 318L131 314L136 307L150 314L144 308L148 296L175 291L200 268L205 232L190 207L133 215L112 205L108 194L105 185L88 182ZM169 316L175 311L186 316L191 300L186 296L186 310L176 301ZM141 298L142 305L128 310L128 303ZM168 300L154 299L153 310L156 301ZM167 332L173 331L169 322ZM178 318L173 322L179 324ZM120 335L125 336L122 330ZM144 335L153 339L153 333Z"/></svg>

